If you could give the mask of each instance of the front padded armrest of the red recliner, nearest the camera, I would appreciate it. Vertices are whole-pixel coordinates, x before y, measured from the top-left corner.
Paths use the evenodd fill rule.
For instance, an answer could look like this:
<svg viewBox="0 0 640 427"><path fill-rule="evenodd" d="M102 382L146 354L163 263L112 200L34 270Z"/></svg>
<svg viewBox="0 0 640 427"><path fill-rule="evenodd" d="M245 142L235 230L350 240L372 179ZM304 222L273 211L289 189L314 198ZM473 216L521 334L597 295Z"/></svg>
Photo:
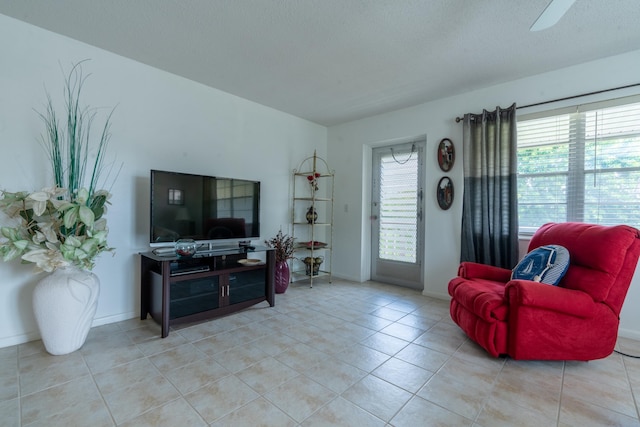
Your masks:
<svg viewBox="0 0 640 427"><path fill-rule="evenodd" d="M596 302L585 292L530 280L511 280L505 287L505 296L512 310L537 307L582 318L593 317L597 312Z"/></svg>

